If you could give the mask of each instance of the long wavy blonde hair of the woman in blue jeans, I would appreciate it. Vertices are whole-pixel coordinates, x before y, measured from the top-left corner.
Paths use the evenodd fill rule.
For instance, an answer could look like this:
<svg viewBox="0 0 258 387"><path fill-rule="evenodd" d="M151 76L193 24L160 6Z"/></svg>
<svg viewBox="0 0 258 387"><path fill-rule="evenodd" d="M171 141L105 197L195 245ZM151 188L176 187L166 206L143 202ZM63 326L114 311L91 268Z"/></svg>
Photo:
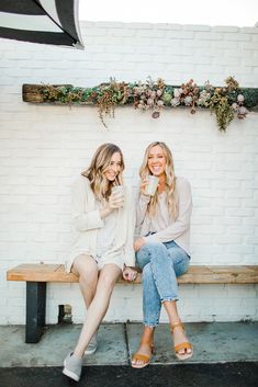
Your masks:
<svg viewBox="0 0 258 387"><path fill-rule="evenodd" d="M166 167L165 167L165 190L168 192L167 195L167 205L168 210L172 219L175 220L178 216L178 197L176 195L176 175L173 169L173 160L172 153L168 146L165 143L155 141L149 144L149 146L145 150L144 160L139 169L139 177L145 179L147 174L152 174L148 168L148 156L149 151L153 147L159 146L164 150ZM150 197L150 201L147 206L147 212L150 217L154 217L157 212L158 204L158 191L156 191L155 195Z"/></svg>

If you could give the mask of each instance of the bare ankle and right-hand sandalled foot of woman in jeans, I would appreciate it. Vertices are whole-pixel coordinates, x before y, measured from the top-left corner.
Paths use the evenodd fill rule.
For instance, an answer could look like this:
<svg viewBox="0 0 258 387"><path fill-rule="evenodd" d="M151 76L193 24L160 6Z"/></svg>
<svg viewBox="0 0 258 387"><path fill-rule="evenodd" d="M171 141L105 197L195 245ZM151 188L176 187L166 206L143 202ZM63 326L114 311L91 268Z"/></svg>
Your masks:
<svg viewBox="0 0 258 387"><path fill-rule="evenodd" d="M178 315L177 303L176 301L164 301L164 307L168 314L170 325L181 322ZM176 327L173 329L173 343L175 345L182 342L188 342L184 331L181 327ZM178 351L179 354L191 353L190 349Z"/></svg>

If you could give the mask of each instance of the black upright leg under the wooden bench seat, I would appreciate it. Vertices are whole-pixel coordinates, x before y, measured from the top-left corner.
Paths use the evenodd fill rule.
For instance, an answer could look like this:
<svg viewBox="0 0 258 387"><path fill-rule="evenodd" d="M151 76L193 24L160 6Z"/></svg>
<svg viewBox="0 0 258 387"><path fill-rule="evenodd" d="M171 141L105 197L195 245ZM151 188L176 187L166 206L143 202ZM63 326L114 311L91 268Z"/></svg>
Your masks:
<svg viewBox="0 0 258 387"><path fill-rule="evenodd" d="M46 316L46 283L26 282L25 342L37 343L44 332Z"/></svg>

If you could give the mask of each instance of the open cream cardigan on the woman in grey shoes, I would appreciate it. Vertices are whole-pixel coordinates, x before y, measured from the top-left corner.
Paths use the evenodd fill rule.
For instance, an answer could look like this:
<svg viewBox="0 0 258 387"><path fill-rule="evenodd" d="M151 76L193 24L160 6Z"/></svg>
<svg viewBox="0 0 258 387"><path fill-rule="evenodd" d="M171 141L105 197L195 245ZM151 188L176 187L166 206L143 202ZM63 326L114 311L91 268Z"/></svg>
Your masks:
<svg viewBox="0 0 258 387"><path fill-rule="evenodd" d="M104 227L89 180L80 177L74 185L72 220L78 236L66 261L69 273L76 257L81 253L96 257L98 229ZM135 210L131 190L125 187L125 204L119 208L114 246L102 255L105 263L120 258L126 266L135 265L133 250Z"/></svg>

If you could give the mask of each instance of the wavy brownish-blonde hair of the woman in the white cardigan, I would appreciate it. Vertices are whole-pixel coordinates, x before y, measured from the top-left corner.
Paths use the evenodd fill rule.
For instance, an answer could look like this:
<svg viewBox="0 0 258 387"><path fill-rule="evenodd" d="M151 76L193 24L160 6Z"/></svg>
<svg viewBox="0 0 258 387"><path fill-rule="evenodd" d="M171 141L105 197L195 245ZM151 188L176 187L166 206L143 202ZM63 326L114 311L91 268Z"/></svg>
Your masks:
<svg viewBox="0 0 258 387"><path fill-rule="evenodd" d="M104 173L106 172L111 158L114 153L120 153L121 156L121 170L116 175L114 181L109 181ZM123 177L122 172L124 170L124 158L123 153L114 144L103 144L101 145L94 152L91 163L87 170L85 170L81 174L86 177L90 181L90 186L97 198L100 202L104 202L111 194L111 189L113 185L122 185Z"/></svg>

